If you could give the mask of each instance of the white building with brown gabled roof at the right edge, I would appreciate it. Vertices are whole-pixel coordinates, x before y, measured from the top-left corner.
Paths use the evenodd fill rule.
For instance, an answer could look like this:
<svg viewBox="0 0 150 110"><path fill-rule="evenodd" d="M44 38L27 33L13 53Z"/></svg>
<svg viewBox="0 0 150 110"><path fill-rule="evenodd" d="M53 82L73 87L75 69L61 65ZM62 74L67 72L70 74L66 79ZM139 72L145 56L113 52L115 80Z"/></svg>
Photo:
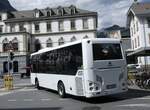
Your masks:
<svg viewBox="0 0 150 110"><path fill-rule="evenodd" d="M127 13L130 28L131 55L137 55L137 63L150 65L150 3L133 3Z"/></svg>

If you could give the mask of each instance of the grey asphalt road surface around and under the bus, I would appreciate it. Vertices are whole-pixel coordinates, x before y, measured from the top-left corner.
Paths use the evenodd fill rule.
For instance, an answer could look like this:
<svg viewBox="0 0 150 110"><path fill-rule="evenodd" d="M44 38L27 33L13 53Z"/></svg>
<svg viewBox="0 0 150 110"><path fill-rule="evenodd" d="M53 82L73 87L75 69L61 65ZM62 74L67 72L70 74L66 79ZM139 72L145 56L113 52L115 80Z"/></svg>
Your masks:
<svg viewBox="0 0 150 110"><path fill-rule="evenodd" d="M2 80L0 79L0 82ZM129 89L127 93L85 99L37 90L29 79L16 78L15 89L0 89L0 110L150 110L150 91Z"/></svg>

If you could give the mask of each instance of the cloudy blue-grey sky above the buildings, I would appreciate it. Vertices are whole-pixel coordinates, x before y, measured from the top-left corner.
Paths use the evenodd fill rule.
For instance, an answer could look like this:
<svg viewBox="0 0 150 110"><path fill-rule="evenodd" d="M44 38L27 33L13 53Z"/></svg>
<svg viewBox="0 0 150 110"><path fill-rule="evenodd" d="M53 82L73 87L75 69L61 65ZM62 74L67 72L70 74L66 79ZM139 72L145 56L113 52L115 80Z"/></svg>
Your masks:
<svg viewBox="0 0 150 110"><path fill-rule="evenodd" d="M9 0L17 10L32 10L34 8L46 8L70 6L71 4L81 9L98 12L98 28L105 28L118 24L126 25L126 13L134 0ZM150 0L138 0L150 2Z"/></svg>

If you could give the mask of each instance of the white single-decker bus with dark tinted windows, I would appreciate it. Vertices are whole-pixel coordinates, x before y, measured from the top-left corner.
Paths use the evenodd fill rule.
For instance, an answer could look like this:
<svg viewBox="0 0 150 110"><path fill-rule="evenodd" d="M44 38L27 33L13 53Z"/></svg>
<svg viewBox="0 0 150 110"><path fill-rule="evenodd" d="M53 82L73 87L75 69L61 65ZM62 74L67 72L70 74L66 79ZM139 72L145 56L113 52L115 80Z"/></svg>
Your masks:
<svg viewBox="0 0 150 110"><path fill-rule="evenodd" d="M31 54L31 83L87 98L127 91L126 60L116 39L83 39Z"/></svg>

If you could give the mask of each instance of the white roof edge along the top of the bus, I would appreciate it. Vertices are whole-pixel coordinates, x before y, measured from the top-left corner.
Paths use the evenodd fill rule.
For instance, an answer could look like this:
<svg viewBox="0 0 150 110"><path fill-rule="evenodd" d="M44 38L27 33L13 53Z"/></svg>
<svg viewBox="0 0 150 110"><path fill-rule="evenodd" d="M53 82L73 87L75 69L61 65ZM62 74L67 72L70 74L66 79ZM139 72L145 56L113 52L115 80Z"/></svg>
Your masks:
<svg viewBox="0 0 150 110"><path fill-rule="evenodd" d="M41 54L41 53L44 53L44 52L48 52L48 51L51 51L51 50L55 50L55 49L60 49L60 48L63 48L63 47L67 47L67 46L71 46L71 45L75 45L75 44L79 44L83 41L92 41L92 42L103 42L103 43L119 43L120 40L119 39L114 39L114 38L93 38L93 39L82 39L82 40L77 40L77 41L74 41L74 42L69 42L69 43L66 43L66 44L63 44L63 45L60 45L60 46L56 46L56 47L46 47L44 49L41 49L39 50L38 52L35 52L35 53L32 53L31 56L33 55L37 55L37 54Z"/></svg>

